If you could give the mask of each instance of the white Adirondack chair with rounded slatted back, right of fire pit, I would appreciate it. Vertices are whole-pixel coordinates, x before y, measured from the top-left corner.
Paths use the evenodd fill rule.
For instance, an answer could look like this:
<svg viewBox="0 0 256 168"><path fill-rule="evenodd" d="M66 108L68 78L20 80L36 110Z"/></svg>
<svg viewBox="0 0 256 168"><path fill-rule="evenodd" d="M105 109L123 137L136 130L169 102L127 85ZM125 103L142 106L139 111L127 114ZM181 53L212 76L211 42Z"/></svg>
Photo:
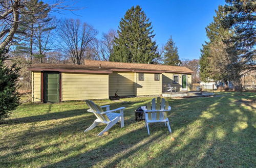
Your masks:
<svg viewBox="0 0 256 168"><path fill-rule="evenodd" d="M147 128L148 135L150 134L150 128L148 127L149 123L164 122L165 126L167 124L169 132L172 132L167 118L168 111L170 111L171 107L164 98L161 100L161 98L158 97L157 102L156 98L154 98L151 102L147 103L147 106L143 106L142 109L144 111L145 127Z"/></svg>

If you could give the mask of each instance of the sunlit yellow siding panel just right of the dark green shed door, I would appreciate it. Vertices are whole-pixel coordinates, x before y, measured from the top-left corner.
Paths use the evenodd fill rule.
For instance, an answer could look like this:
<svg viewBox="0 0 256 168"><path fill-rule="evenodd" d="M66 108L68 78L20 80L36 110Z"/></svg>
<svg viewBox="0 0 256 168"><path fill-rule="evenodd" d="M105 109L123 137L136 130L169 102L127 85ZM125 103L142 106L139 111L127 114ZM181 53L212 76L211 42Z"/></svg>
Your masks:
<svg viewBox="0 0 256 168"><path fill-rule="evenodd" d="M62 72L62 101L108 98L109 74Z"/></svg>

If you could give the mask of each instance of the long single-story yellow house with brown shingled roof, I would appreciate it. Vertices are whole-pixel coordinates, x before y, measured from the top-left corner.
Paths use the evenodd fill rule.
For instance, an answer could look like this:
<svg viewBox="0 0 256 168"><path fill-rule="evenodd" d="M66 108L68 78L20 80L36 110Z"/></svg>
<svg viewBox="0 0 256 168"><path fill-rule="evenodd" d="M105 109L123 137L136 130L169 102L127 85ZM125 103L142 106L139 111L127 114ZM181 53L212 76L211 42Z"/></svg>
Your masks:
<svg viewBox="0 0 256 168"><path fill-rule="evenodd" d="M86 60L84 65L35 64L32 101L108 99L115 96L161 95L164 85L189 91L191 71L182 66Z"/></svg>

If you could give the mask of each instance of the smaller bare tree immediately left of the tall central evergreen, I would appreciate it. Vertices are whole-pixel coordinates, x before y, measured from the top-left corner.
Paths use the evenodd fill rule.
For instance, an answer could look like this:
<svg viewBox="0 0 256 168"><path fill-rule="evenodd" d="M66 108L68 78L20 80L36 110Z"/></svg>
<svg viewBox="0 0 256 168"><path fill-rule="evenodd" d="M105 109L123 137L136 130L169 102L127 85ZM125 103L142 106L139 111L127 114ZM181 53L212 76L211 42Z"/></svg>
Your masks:
<svg viewBox="0 0 256 168"><path fill-rule="evenodd" d="M113 53L114 39L118 34L111 29L108 33L102 34L102 39L95 39L91 44L92 53L98 60L109 61L110 54Z"/></svg>

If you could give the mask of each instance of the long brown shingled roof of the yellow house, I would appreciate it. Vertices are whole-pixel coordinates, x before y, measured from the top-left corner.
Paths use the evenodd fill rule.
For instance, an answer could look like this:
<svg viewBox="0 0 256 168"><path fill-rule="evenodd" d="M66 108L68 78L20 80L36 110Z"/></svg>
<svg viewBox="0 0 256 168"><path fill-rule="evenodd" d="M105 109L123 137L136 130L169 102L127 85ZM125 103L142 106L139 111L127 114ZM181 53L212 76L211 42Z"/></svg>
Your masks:
<svg viewBox="0 0 256 168"><path fill-rule="evenodd" d="M112 71L133 71L153 73L194 73L183 66L118 63L110 61L85 60L84 65L67 64L34 64L29 67L31 71L59 71L59 72L84 72L84 73L112 73Z"/></svg>

